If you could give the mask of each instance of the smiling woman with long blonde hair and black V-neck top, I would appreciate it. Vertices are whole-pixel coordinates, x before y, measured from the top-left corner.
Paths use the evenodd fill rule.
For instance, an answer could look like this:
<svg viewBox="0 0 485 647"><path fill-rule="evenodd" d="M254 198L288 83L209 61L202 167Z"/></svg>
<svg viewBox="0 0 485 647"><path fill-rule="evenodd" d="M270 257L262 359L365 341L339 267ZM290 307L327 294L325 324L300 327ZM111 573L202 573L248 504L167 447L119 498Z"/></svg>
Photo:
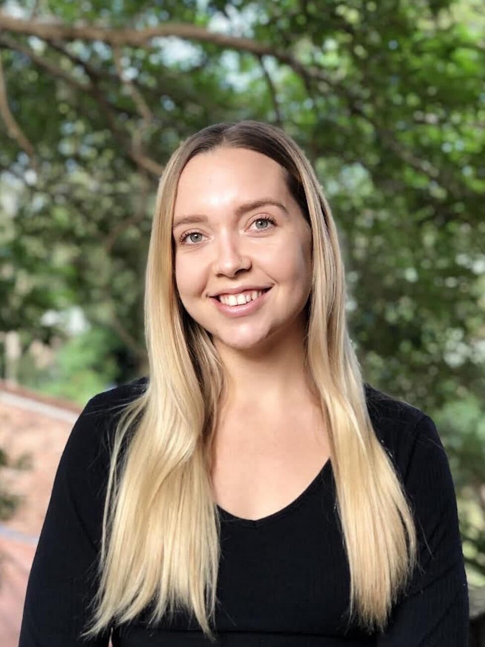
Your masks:
<svg viewBox="0 0 485 647"><path fill-rule="evenodd" d="M145 314L150 375L89 400L62 455L20 647L466 644L444 448L363 382L330 208L283 131L175 151Z"/></svg>

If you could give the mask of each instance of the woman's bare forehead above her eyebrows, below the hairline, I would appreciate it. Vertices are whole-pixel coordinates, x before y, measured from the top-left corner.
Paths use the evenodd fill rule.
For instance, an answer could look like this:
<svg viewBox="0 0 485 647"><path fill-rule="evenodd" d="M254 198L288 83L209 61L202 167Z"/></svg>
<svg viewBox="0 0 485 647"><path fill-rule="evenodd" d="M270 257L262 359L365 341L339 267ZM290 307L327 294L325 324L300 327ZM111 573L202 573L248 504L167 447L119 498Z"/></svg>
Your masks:
<svg viewBox="0 0 485 647"><path fill-rule="evenodd" d="M199 153L185 166L177 185L175 214L200 206L248 201L264 193L284 197L284 170L275 160L245 148Z"/></svg>

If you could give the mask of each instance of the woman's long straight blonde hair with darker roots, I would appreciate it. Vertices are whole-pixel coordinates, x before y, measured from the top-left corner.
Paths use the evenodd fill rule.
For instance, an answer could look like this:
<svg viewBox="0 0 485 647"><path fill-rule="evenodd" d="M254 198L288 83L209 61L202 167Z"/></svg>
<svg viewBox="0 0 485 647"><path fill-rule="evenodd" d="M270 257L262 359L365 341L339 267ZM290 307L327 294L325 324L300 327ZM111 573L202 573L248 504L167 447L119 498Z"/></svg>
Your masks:
<svg viewBox="0 0 485 647"><path fill-rule="evenodd" d="M144 300L149 380L115 426L99 586L84 635L128 622L150 604L150 622L165 613L172 617L182 606L215 639L210 624L221 553L210 468L225 378L209 333L188 316L175 288L172 218L186 163L220 146L276 160L310 224L306 362L328 430L350 567L350 617L355 614L367 630L383 630L416 564L416 531L405 491L368 415L346 324L337 230L304 152L281 129L246 120L215 124L186 139L159 182Z"/></svg>

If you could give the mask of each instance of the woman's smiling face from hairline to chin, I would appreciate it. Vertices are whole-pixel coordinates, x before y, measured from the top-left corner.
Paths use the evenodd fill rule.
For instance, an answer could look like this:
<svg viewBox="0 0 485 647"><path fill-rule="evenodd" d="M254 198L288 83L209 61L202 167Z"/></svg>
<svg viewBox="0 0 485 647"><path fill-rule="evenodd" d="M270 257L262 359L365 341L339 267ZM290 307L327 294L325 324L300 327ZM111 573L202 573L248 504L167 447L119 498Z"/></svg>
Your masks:
<svg viewBox="0 0 485 647"><path fill-rule="evenodd" d="M181 302L216 347L262 349L302 334L311 232L277 162L243 148L199 153L181 173L173 224ZM265 292L244 305L214 297L234 289Z"/></svg>

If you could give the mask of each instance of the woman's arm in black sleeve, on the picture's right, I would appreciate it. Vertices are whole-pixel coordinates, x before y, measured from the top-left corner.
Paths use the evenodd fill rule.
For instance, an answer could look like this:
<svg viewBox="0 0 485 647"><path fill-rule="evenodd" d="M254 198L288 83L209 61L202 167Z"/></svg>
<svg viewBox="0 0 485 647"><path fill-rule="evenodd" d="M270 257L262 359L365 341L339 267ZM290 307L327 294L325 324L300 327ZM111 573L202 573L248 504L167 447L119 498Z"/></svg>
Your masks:
<svg viewBox="0 0 485 647"><path fill-rule="evenodd" d="M455 488L446 452L427 415L416 427L405 489L417 519L418 567L377 645L466 647L468 586Z"/></svg>

